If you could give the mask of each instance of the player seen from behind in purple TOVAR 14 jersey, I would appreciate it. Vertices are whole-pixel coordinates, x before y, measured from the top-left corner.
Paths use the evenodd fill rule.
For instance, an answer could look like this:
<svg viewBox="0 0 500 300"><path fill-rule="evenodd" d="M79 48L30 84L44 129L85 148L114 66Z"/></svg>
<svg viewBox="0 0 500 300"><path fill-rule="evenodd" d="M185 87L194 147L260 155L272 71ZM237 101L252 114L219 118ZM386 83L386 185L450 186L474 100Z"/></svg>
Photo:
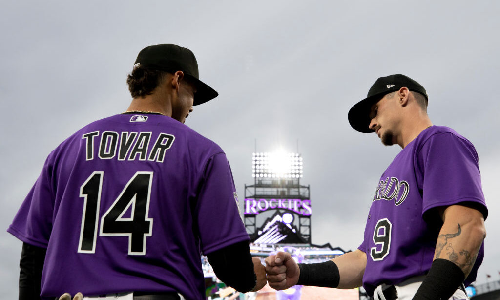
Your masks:
<svg viewBox="0 0 500 300"><path fill-rule="evenodd" d="M146 47L127 83L129 108L57 146L7 229L23 241L19 299L204 299L200 253L226 284L260 289L226 156L183 124L217 96L194 54Z"/></svg>

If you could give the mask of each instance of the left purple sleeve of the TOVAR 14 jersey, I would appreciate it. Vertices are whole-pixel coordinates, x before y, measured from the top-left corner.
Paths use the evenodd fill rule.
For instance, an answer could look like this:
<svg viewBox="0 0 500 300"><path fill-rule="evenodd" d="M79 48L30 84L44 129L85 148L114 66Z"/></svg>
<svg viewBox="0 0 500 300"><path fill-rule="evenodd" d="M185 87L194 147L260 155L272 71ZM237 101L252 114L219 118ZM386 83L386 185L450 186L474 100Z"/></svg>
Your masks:
<svg viewBox="0 0 500 300"><path fill-rule="evenodd" d="M52 230L54 208L49 158L7 229L21 241L43 248Z"/></svg>

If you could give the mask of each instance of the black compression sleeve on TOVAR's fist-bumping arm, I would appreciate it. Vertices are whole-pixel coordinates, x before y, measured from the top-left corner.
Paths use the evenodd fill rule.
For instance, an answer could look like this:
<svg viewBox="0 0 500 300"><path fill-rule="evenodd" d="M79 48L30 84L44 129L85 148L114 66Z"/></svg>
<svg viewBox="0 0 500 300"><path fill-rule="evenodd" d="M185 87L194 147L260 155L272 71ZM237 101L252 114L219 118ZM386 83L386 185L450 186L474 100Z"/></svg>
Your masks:
<svg viewBox="0 0 500 300"><path fill-rule="evenodd" d="M237 242L206 255L215 275L237 291L247 292L255 287L257 277L248 242Z"/></svg>

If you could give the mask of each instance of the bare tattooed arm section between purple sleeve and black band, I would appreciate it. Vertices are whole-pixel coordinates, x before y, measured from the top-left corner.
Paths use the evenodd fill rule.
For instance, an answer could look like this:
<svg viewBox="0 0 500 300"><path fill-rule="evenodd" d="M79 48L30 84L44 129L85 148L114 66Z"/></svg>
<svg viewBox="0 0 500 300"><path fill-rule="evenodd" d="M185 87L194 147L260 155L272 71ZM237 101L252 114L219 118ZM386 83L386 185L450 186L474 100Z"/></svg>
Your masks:
<svg viewBox="0 0 500 300"><path fill-rule="evenodd" d="M463 205L442 208L440 214L443 225L437 238L434 259L443 258L455 263L466 277L486 237L483 215Z"/></svg>

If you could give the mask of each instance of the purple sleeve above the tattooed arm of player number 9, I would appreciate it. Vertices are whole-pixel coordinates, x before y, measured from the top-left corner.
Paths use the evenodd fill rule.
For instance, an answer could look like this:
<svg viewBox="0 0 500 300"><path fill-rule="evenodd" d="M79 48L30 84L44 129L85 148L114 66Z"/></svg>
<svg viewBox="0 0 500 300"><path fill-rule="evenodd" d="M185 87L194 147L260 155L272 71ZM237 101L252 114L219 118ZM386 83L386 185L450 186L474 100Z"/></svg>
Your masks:
<svg viewBox="0 0 500 300"><path fill-rule="evenodd" d="M468 140L449 132L433 134L417 160L423 177L422 216L436 206L475 202L486 218L477 152Z"/></svg>

